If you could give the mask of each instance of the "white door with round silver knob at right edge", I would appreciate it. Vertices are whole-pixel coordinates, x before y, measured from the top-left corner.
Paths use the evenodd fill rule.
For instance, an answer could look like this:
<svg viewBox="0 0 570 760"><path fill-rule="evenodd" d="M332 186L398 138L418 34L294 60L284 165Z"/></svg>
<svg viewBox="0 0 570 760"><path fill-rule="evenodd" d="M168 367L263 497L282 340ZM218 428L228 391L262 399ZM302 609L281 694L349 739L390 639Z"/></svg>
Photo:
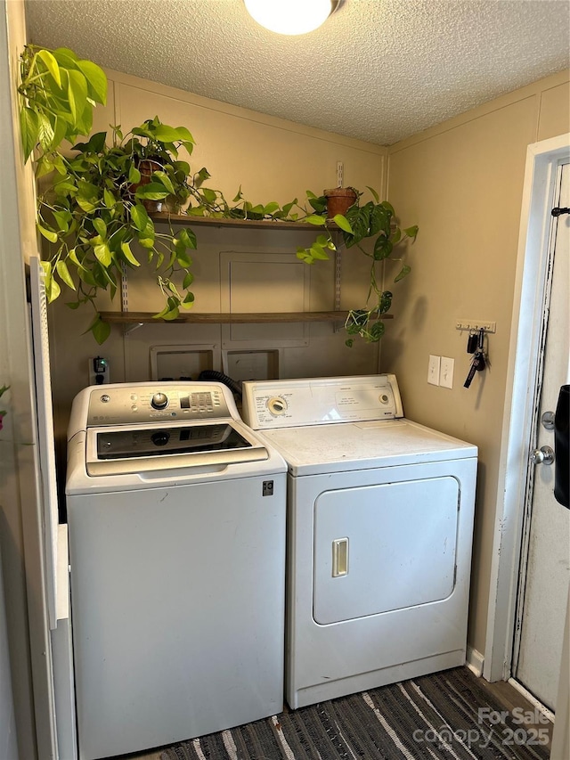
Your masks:
<svg viewBox="0 0 570 760"><path fill-rule="evenodd" d="M570 164L560 168L556 205L570 207ZM542 371L536 389L537 450L554 448L554 430L547 429L542 418L555 412L559 388L570 381L570 215L554 220L551 234L550 302L547 297ZM555 466L547 462L548 458L529 464L513 675L555 709L570 581L570 510L554 498Z"/></svg>

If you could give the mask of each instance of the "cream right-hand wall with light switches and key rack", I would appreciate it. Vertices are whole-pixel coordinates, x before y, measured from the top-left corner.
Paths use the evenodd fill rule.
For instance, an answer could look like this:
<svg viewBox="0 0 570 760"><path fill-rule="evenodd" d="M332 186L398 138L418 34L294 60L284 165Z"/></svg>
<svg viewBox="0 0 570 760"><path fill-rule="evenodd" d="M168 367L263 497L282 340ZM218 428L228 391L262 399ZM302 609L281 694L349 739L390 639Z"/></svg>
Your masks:
<svg viewBox="0 0 570 760"><path fill-rule="evenodd" d="M482 653L526 147L568 131L568 93L563 72L388 149L388 198L419 236L381 369L400 379L408 416L479 446L468 640ZM469 389L458 318L497 323L491 369ZM455 360L451 390L428 385L430 354Z"/></svg>

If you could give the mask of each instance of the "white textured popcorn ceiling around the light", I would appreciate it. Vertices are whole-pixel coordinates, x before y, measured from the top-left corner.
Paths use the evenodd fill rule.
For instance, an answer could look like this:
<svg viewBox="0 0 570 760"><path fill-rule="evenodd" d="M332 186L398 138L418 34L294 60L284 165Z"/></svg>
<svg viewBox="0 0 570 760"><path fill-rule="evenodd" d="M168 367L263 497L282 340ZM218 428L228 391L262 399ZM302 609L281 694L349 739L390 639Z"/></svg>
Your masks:
<svg viewBox="0 0 570 760"><path fill-rule="evenodd" d="M311 0L307 0L307 3ZM242 0L28 0L30 41L389 145L566 69L567 0L344 0L283 37Z"/></svg>

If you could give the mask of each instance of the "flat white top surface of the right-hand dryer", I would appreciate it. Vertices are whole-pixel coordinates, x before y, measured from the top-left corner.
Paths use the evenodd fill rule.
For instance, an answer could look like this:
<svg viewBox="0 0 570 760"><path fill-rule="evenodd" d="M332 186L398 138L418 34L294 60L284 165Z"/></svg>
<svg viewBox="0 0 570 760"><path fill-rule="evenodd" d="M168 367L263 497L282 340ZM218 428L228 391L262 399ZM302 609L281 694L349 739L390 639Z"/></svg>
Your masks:
<svg viewBox="0 0 570 760"><path fill-rule="evenodd" d="M318 475L475 457L475 445L409 420L264 430L292 475Z"/></svg>

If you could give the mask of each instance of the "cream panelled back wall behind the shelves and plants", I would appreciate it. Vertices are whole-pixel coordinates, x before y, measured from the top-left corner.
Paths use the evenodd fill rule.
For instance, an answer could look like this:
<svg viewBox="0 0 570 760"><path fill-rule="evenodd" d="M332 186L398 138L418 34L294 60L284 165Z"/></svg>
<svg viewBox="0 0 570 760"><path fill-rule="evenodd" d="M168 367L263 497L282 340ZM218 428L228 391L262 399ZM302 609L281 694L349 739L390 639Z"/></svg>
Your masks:
<svg viewBox="0 0 570 760"><path fill-rule="evenodd" d="M268 117L198 95L159 86L139 78L108 71L109 101L94 114L94 131L120 124L126 132L145 118L158 115L172 126L183 125L191 130L196 147L191 155L191 168L206 166L212 175L208 185L221 189L232 199L240 185L254 203L277 200L281 204L298 198L305 201L311 189L321 193L337 184L337 161L344 163L345 184L370 185L381 194L386 189L387 149L333 135L311 127L303 127L284 119ZM212 230L195 227L198 250L193 254L197 312L220 311L220 253L233 250L265 257L273 253L294 255L298 245L308 245L313 233L289 231ZM366 257L351 251L342 257L341 308L362 306L368 290ZM302 262L298 262L303 267ZM309 267L310 308L314 311L334 308L334 263ZM64 294L66 295L66 294ZM50 306L52 335L53 400L56 435L59 441L61 478L63 473L64 437L73 396L87 384L89 357L104 355L110 359L112 381L148 380L150 347L164 344L215 343L222 345L224 331L220 326L145 325L126 337L121 327L114 327L110 339L99 347L90 336L83 336L93 318L90 309L70 311L66 298ZM161 308L154 277L147 271L129 274L129 309L158 311ZM103 309L120 310L102 299ZM260 309L265 311L266 308ZM248 311L256 311L252 293ZM279 345L298 325L274 325L251 330L252 337L265 335L267 347ZM359 374L378 371L378 347L358 345L345 347L344 331L334 331L330 323L311 324L308 346L283 347L281 376L317 376L320 374ZM222 369L216 366L216 370Z"/></svg>

